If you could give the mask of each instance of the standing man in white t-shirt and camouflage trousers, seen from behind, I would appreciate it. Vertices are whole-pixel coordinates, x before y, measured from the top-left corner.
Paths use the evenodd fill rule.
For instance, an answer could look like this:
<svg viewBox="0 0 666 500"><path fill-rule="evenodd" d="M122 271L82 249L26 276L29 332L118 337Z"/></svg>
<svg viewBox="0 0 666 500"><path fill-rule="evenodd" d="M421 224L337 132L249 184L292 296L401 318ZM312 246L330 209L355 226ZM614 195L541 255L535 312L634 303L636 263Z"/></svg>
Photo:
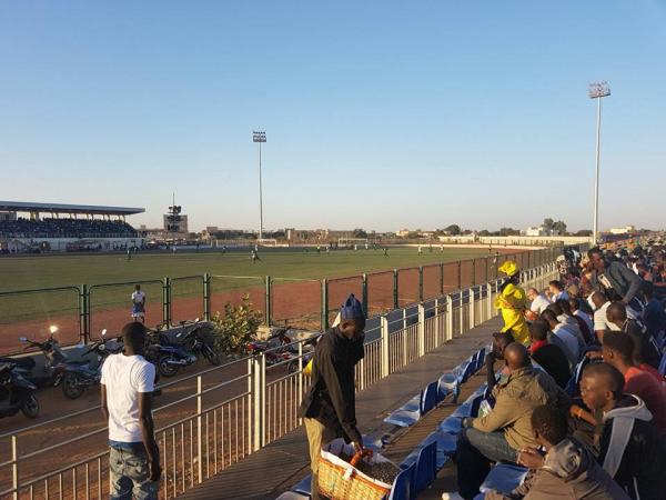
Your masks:
<svg viewBox="0 0 666 500"><path fill-rule="evenodd" d="M157 500L161 476L151 394L155 367L143 358L145 327L122 329L124 352L102 366L102 413L109 421L110 500Z"/></svg>

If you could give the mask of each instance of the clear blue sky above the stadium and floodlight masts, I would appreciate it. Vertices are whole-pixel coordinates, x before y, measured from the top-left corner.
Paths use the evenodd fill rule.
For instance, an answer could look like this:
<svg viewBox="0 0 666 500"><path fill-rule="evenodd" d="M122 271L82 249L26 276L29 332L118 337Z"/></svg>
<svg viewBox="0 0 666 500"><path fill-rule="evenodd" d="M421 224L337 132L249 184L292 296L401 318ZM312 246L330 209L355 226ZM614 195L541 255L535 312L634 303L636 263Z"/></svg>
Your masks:
<svg viewBox="0 0 666 500"><path fill-rule="evenodd" d="M191 227L665 227L666 2L3 1L0 199Z"/></svg>

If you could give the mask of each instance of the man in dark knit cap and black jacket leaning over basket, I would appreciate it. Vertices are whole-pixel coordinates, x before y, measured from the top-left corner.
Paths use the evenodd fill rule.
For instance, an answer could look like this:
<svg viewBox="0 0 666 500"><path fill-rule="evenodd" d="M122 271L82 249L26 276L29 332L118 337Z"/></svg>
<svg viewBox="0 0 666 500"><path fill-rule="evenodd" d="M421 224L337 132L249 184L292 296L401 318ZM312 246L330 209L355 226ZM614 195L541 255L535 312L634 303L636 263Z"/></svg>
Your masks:
<svg viewBox="0 0 666 500"><path fill-rule="evenodd" d="M317 471L322 447L342 437L363 449L356 428L354 367L363 359L364 329L363 307L352 293L340 309L340 323L326 330L314 349L312 386L299 412L310 444L313 500L321 498Z"/></svg>

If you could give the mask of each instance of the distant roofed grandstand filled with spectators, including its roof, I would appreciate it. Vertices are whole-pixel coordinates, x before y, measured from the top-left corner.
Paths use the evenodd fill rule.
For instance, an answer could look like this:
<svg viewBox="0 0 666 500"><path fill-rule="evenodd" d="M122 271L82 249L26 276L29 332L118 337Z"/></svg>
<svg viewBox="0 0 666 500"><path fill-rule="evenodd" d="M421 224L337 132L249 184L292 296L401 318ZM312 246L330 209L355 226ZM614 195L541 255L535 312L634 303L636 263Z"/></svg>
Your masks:
<svg viewBox="0 0 666 500"><path fill-rule="evenodd" d="M0 201L3 253L119 250L142 238L125 218L142 208Z"/></svg>

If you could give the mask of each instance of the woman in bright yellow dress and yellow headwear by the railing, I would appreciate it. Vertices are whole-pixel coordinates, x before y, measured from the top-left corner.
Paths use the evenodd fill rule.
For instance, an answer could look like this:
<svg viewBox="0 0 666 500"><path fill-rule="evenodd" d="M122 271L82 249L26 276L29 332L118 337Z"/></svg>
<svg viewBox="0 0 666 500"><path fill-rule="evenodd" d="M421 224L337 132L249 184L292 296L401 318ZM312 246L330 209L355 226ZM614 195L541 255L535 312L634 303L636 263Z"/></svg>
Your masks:
<svg viewBox="0 0 666 500"><path fill-rule="evenodd" d="M529 342L529 331L524 316L527 308L527 296L525 290L518 287L521 279L518 266L514 261L507 260L497 270L506 274L500 293L495 298L495 309L500 309L504 320L502 331L511 332L516 342L526 344Z"/></svg>

